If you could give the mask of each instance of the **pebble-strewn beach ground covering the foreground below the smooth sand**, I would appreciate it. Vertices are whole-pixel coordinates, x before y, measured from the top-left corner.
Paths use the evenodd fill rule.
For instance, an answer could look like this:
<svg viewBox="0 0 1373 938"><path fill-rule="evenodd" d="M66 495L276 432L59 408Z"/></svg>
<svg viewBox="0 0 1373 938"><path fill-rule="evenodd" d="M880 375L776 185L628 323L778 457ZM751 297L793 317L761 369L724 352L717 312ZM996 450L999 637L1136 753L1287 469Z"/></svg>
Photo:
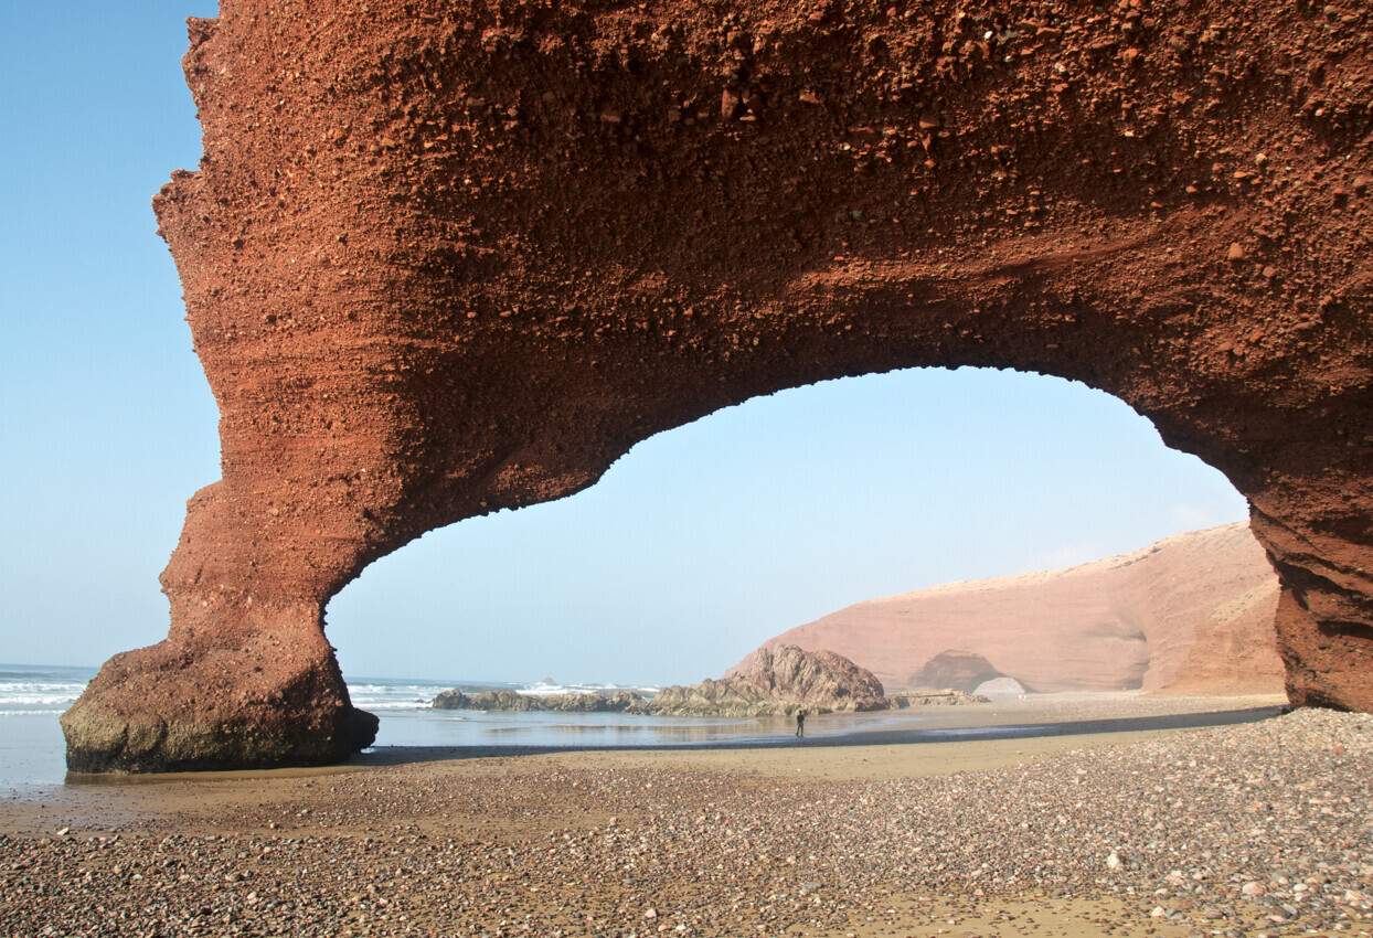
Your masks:
<svg viewBox="0 0 1373 938"><path fill-rule="evenodd" d="M1096 934L1373 934L1365 714L895 781L684 765L409 765L8 834L0 934L1070 934L1035 919L1070 898L1116 900Z"/></svg>

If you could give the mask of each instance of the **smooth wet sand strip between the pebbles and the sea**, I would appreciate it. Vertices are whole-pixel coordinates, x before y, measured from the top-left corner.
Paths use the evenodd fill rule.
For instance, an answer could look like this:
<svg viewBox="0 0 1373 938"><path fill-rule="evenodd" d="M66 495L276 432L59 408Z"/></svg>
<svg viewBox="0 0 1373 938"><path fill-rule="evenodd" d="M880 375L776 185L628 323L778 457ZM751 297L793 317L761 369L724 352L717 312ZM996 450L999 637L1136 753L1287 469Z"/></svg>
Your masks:
<svg viewBox="0 0 1373 938"><path fill-rule="evenodd" d="M1223 709L1215 709L1223 707ZM247 795L269 802L297 786L336 776L424 769L485 772L486 766L671 765L713 770L886 780L978 772L1028 764L1076 747L1130 743L1159 735L1271 720L1287 707L1274 695L1232 698L1160 696L1140 692L1079 692L1000 699L967 707L833 713L813 717L814 735L795 739L781 718L747 722L761 731L702 743L526 746L379 746L346 762L275 769L165 773L67 773L63 783L32 784L0 795L0 832L59 827L128 830L128 821L177 816L202 798ZM1144 710L1144 713L1140 713ZM1013 720L1013 722L1006 722ZM891 724L908 724L892 727ZM121 827L92 824L102 813Z"/></svg>

